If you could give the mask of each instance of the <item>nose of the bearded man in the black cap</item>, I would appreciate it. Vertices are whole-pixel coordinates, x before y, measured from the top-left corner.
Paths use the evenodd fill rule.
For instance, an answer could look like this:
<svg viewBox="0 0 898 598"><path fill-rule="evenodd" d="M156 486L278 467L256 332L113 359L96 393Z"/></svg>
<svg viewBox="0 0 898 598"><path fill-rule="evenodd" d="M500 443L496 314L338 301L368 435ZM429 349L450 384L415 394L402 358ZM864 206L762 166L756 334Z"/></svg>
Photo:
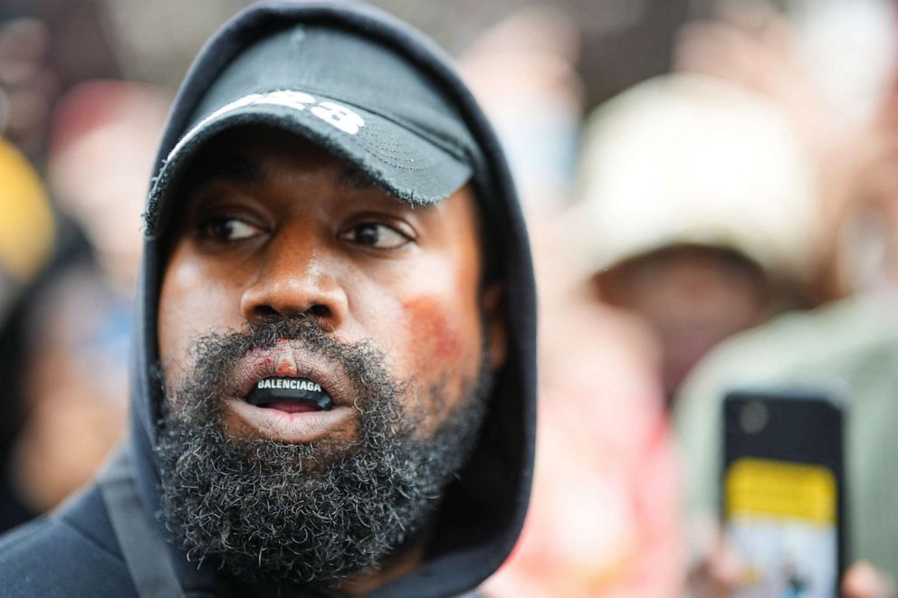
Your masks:
<svg viewBox="0 0 898 598"><path fill-rule="evenodd" d="M240 299L251 325L272 318L314 318L326 330L344 321L349 300L329 267L329 252L308 231L275 233L260 251L253 281Z"/></svg>

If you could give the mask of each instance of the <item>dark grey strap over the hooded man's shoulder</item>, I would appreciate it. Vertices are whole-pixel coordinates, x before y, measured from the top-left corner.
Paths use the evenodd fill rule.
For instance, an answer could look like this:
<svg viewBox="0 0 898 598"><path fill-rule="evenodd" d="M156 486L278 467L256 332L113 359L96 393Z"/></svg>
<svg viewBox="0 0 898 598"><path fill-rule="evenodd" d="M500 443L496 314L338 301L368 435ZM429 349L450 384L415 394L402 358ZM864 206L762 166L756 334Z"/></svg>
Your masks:
<svg viewBox="0 0 898 598"><path fill-rule="evenodd" d="M186 598L158 524L140 505L130 447L117 451L100 472L100 492L140 598Z"/></svg>

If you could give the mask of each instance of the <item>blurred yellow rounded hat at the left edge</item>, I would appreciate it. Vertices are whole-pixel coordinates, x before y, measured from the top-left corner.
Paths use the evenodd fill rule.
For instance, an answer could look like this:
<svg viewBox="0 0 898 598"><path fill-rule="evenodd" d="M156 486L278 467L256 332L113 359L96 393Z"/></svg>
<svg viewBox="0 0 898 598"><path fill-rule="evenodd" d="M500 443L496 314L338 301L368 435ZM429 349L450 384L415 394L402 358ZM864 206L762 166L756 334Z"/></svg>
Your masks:
<svg viewBox="0 0 898 598"><path fill-rule="evenodd" d="M30 280L53 249L53 211L37 173L0 138L0 269L20 284Z"/></svg>

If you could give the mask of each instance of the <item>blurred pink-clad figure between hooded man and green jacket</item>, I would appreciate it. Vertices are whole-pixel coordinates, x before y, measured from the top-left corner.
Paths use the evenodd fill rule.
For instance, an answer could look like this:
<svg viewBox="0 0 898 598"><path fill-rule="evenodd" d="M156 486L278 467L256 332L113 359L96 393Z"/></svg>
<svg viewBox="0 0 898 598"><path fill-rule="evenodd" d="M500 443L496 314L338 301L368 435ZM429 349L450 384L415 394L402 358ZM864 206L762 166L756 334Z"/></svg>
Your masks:
<svg viewBox="0 0 898 598"><path fill-rule="evenodd" d="M681 480L654 338L598 304L544 238L538 446L521 541L496 596L680 595Z"/></svg>

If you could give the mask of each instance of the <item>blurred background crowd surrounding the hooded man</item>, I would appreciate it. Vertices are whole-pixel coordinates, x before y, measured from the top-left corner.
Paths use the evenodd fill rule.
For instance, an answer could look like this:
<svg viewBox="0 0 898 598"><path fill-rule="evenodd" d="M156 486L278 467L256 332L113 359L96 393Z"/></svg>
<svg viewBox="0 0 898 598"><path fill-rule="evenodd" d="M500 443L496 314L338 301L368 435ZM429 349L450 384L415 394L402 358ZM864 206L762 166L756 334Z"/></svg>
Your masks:
<svg viewBox="0 0 898 598"><path fill-rule="evenodd" d="M139 214L171 84L246 4L0 5L0 529L60 503L124 433ZM888 593L895 5L374 4L454 53L530 226L536 481L487 592L730 592L721 402L761 384L845 400L843 587Z"/></svg>

